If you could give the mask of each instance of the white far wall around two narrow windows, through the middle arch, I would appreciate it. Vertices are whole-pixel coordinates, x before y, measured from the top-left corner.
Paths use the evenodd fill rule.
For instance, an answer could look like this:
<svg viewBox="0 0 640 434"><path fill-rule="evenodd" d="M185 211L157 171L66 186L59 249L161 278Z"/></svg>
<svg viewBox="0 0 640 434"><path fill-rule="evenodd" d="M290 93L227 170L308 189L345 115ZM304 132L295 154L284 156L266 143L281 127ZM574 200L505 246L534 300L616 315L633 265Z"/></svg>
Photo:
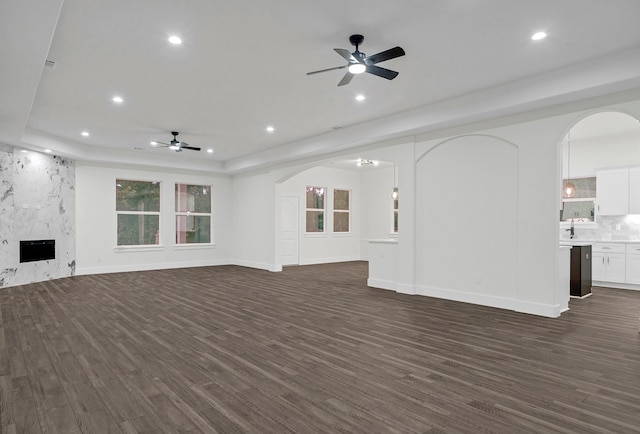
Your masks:
<svg viewBox="0 0 640 434"><path fill-rule="evenodd" d="M328 167L315 167L299 173L283 182L279 188L281 195L297 196L300 203L300 237L299 262L304 264L318 264L326 262L354 261L361 258L360 239L361 221L366 219L361 210L361 181L360 174L368 170L344 170ZM374 171L376 169L373 169ZM327 190L325 198L325 232L307 234L306 187L324 187ZM333 232L333 190L350 190L351 223L349 233Z"/></svg>

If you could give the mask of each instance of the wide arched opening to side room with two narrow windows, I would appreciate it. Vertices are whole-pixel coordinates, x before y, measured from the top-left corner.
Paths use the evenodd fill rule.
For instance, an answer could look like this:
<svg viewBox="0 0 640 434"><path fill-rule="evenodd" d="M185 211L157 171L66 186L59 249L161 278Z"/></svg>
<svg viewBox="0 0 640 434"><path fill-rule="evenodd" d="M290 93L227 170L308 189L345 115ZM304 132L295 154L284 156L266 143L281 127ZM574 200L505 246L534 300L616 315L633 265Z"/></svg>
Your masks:
<svg viewBox="0 0 640 434"><path fill-rule="evenodd" d="M283 266L367 259L367 239L394 235L393 162L343 157L296 169L276 184Z"/></svg>

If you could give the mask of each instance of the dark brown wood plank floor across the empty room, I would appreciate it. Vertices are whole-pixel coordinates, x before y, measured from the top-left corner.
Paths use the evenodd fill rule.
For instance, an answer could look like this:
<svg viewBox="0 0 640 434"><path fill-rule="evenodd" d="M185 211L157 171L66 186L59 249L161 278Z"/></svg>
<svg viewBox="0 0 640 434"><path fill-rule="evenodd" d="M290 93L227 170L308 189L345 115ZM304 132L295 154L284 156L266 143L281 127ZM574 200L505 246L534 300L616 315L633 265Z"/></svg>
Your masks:
<svg viewBox="0 0 640 434"><path fill-rule="evenodd" d="M548 319L368 288L366 267L0 290L0 432L640 432L640 292Z"/></svg>

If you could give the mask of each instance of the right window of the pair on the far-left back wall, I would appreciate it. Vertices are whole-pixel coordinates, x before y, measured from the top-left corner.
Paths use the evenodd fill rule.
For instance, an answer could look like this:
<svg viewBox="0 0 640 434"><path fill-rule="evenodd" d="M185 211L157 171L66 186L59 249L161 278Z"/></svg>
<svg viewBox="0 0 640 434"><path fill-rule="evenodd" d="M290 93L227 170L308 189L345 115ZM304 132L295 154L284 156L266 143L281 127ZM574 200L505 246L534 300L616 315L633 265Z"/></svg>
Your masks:
<svg viewBox="0 0 640 434"><path fill-rule="evenodd" d="M176 184L176 244L211 243L211 186Z"/></svg>

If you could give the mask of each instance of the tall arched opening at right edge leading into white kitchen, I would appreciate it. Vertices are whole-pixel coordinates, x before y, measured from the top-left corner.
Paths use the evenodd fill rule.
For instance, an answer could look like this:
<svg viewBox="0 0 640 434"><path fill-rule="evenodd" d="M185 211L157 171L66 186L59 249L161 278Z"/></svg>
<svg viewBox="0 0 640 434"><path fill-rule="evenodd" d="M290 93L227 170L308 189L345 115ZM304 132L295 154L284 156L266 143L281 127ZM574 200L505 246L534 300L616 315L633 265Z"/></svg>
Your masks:
<svg viewBox="0 0 640 434"><path fill-rule="evenodd" d="M562 144L560 240L573 246L571 295L589 296L592 286L637 289L640 122L620 111L590 114Z"/></svg>

